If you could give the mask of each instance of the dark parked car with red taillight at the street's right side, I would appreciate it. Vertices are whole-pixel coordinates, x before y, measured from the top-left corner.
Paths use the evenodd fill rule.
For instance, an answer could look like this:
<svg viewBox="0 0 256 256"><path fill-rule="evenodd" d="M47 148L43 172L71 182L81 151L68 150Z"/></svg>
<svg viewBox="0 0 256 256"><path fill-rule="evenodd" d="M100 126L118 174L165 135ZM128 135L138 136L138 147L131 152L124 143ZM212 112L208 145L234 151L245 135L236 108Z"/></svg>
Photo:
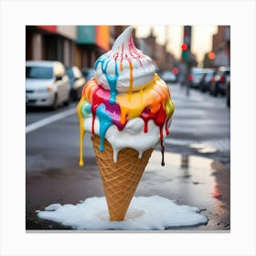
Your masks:
<svg viewBox="0 0 256 256"><path fill-rule="evenodd" d="M210 82L209 92L213 96L218 96L219 94L226 94L226 80L230 75L229 67L219 67L217 73L214 76L214 80Z"/></svg>

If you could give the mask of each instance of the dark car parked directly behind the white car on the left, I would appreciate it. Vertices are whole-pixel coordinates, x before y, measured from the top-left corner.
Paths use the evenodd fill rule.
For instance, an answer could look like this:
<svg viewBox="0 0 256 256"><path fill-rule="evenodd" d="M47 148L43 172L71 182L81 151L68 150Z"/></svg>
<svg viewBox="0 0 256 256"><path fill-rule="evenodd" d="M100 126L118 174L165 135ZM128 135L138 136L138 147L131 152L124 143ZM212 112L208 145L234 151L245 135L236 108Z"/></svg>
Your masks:
<svg viewBox="0 0 256 256"><path fill-rule="evenodd" d="M70 98L73 101L78 101L80 99L80 94L85 83L85 79L80 68L77 66L67 67L66 70L71 85Z"/></svg>

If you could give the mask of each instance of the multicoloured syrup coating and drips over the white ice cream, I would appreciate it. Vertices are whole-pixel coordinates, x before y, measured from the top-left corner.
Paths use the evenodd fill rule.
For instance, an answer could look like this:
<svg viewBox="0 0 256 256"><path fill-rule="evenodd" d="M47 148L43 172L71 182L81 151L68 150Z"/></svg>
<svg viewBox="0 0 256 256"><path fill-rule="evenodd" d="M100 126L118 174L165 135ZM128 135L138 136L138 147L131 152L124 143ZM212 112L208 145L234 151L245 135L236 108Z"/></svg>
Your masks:
<svg viewBox="0 0 256 256"><path fill-rule="evenodd" d="M102 55L95 62L95 69L101 65L101 72L107 80L110 90L106 90L102 84L99 84L96 78L88 80L81 93L81 99L77 107L80 119L80 165L82 160L82 140L84 136L84 119L92 116L91 133L95 134L94 123L98 117L100 123L99 135L101 138L100 151L104 151L104 139L107 130L111 125L116 125L119 131L123 131L129 120L140 117L144 121L144 133L148 133L148 122L153 120L159 127L159 140L162 151L162 165L165 165L163 144L164 131L168 131L168 121L174 112L174 104L171 101L170 91L165 81L161 80L155 73L151 81L141 85L139 90L133 91L133 61L131 57L138 61L140 69L144 69L142 58L146 59L149 64L152 60L144 56L141 51L133 45L133 37L129 37L129 53L124 46L121 50L115 52L114 71L108 72L108 66L111 63L109 55ZM118 60L118 61L117 61ZM123 72L123 63L126 61L129 65L129 89L127 92L119 93L116 86L120 75Z"/></svg>

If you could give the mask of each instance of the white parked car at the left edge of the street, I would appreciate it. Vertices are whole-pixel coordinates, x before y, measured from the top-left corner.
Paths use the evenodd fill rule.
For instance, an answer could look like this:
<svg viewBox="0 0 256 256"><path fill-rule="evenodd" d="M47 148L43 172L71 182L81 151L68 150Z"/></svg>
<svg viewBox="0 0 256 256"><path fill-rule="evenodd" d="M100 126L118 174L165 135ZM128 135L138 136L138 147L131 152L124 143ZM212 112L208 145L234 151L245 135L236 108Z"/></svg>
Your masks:
<svg viewBox="0 0 256 256"><path fill-rule="evenodd" d="M69 104L70 81L60 61L26 61L26 105L56 110Z"/></svg>

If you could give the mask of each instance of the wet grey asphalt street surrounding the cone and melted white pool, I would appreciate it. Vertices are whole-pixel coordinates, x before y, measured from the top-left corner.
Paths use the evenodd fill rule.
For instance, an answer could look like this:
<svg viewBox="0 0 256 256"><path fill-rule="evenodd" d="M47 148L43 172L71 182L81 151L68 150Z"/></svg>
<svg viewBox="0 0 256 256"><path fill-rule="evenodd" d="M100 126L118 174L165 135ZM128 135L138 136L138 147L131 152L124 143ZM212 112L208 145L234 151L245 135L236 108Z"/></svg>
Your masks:
<svg viewBox="0 0 256 256"><path fill-rule="evenodd" d="M207 225L189 230L229 230L230 112L225 97L170 84L176 111L165 139L165 167L155 148L135 196L159 195L200 208ZM58 111L27 109L27 229L70 229L37 218L50 204L78 204L102 197L101 177L91 145L84 138L85 166L79 166L77 103Z"/></svg>

